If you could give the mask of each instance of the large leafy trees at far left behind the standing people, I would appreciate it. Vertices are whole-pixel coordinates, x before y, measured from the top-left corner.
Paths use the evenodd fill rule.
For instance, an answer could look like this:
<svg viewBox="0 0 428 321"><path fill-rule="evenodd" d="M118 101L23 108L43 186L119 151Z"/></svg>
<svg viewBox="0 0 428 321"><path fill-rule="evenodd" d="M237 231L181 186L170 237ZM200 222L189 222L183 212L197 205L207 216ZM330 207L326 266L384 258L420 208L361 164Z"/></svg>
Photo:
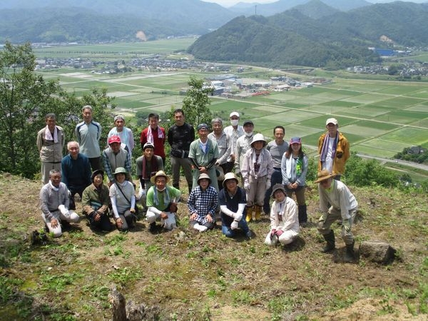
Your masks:
<svg viewBox="0 0 428 321"><path fill-rule="evenodd" d="M46 126L46 113L55 113L64 128L66 141L74 138L81 108L91 105L96 121L104 126L102 146L113 126L108 108L113 98L106 89L93 88L81 98L67 93L58 81L45 81L34 73L36 57L30 44L14 46L6 42L0 51L0 170L32 178L39 172L36 133Z"/></svg>

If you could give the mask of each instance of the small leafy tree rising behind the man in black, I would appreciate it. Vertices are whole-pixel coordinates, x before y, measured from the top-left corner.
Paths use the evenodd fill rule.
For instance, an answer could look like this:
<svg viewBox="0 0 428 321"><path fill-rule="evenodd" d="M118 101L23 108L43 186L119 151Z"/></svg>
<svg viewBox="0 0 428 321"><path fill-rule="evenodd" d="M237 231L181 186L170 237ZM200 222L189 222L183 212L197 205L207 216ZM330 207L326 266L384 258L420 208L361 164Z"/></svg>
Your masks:
<svg viewBox="0 0 428 321"><path fill-rule="evenodd" d="M214 89L210 86L204 86L203 79L198 79L194 76L190 76L188 85L190 88L183 99L183 111L186 121L194 127L200 123L210 124L213 113L208 108L211 104L208 95L211 95Z"/></svg>

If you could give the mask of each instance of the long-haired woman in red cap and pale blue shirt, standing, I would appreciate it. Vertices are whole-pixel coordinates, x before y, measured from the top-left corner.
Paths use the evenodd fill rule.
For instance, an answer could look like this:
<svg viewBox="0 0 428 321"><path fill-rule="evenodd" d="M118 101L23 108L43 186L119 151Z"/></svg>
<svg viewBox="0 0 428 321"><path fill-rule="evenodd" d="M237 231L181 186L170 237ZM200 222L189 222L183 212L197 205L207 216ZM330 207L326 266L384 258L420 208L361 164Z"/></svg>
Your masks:
<svg viewBox="0 0 428 321"><path fill-rule="evenodd" d="M305 200L307 156L302 151L302 141L300 137L293 137L290 141L288 150L282 156L282 184L289 198L292 193L296 194L296 200L299 210L299 223L307 223L307 211Z"/></svg>

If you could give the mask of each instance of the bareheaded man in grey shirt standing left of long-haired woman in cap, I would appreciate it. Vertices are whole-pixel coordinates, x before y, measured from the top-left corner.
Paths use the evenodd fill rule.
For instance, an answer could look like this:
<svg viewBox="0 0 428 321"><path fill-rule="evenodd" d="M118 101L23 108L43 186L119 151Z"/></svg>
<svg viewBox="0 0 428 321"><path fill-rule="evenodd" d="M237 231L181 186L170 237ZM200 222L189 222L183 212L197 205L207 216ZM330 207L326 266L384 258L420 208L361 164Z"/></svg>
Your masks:
<svg viewBox="0 0 428 321"><path fill-rule="evenodd" d="M282 183L281 161L282 156L287 151L288 143L284 141L285 128L282 126L275 126L273 128L273 136L275 139L267 143L266 149L270 153L273 161L273 173L270 178L271 187L266 190L265 201L263 202L263 212L270 213L270 194L272 193L272 186L277 183Z"/></svg>

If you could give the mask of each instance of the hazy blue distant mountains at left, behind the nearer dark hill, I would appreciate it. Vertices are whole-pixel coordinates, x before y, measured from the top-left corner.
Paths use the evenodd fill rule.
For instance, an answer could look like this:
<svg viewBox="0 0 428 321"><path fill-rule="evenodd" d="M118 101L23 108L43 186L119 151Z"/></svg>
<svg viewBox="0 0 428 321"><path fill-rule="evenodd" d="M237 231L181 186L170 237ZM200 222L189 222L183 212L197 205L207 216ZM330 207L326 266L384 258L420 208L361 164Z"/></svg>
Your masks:
<svg viewBox="0 0 428 321"><path fill-rule="evenodd" d="M228 9L199 0L3 0L0 42L135 40L206 34L233 19Z"/></svg>

